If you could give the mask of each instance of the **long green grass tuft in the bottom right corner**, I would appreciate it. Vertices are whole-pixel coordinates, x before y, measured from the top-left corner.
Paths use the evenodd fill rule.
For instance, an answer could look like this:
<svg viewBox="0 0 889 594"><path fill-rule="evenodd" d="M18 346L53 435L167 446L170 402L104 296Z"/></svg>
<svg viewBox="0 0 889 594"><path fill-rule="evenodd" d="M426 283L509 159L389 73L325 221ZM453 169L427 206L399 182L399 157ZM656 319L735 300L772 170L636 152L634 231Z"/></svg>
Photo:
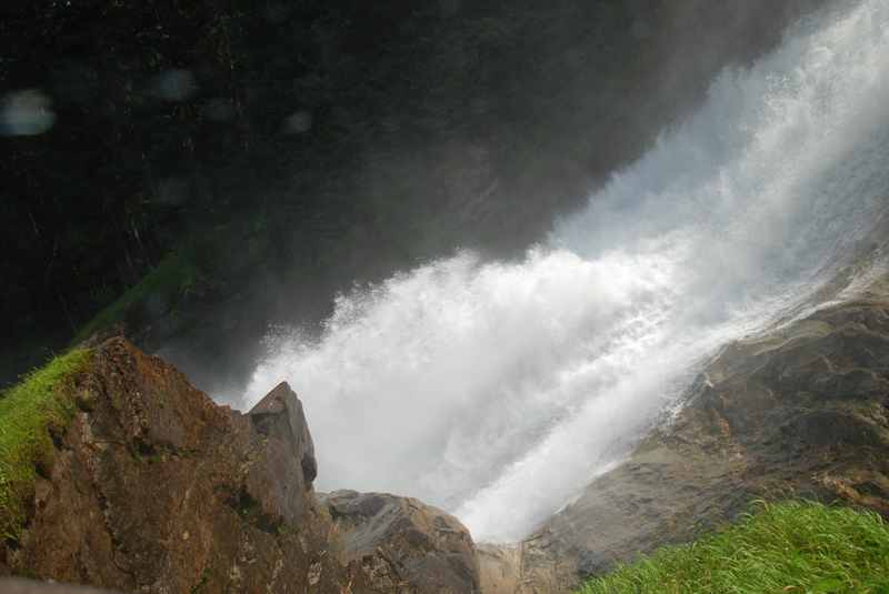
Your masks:
<svg viewBox="0 0 889 594"><path fill-rule="evenodd" d="M889 594L889 526L878 514L757 505L722 532L620 566L579 594Z"/></svg>

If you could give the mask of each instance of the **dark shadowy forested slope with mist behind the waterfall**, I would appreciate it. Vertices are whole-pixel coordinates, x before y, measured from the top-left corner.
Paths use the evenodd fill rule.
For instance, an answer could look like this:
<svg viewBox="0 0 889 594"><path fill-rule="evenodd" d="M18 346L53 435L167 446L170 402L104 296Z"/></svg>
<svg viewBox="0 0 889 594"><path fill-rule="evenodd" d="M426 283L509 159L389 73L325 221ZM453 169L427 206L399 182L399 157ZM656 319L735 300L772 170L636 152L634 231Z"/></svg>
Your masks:
<svg viewBox="0 0 889 594"><path fill-rule="evenodd" d="M354 283L516 256L821 3L7 0L0 384L122 330L212 390Z"/></svg>

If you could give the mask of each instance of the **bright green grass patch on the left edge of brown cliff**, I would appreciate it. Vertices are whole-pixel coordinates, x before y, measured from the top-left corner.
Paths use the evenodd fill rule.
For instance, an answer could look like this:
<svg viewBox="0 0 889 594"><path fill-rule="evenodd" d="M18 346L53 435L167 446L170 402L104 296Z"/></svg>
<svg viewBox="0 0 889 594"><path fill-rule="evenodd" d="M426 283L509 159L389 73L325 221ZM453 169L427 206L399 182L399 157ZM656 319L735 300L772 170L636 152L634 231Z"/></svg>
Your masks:
<svg viewBox="0 0 889 594"><path fill-rule="evenodd" d="M37 469L52 463L49 427L63 427L72 419L74 400L66 387L90 360L90 351L76 349L28 374L0 397L0 532L6 538L18 537Z"/></svg>

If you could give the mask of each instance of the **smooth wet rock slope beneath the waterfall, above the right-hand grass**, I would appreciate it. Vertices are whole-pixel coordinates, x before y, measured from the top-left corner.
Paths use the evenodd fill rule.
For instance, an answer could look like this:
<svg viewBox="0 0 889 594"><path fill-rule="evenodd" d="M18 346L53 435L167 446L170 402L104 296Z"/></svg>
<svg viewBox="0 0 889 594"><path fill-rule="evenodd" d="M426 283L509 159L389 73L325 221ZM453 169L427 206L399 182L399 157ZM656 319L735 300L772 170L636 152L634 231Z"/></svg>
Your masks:
<svg viewBox="0 0 889 594"><path fill-rule="evenodd" d="M482 548L495 575L519 584L509 592L570 592L757 499L842 501L889 516L888 284L726 348L678 417L626 462L525 542Z"/></svg>

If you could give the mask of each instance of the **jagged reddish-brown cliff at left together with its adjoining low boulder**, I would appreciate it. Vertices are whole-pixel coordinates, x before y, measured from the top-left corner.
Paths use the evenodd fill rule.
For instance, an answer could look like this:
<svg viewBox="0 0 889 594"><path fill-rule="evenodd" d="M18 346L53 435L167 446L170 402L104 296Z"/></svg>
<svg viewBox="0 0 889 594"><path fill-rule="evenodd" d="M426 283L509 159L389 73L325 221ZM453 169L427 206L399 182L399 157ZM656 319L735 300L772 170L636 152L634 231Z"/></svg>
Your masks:
<svg viewBox="0 0 889 594"><path fill-rule="evenodd" d="M0 547L0 575L154 593L477 590L472 540L443 512L374 496L411 512L359 505L349 531L331 519L346 513L342 497L321 503L312 490L312 439L287 384L241 414L112 339L58 397L77 412L49 427L51 461L23 502L20 533ZM366 523L374 528L354 563L349 534ZM386 556L394 535L398 558ZM370 570L382 565L391 580ZM444 565L459 580L437 581Z"/></svg>

